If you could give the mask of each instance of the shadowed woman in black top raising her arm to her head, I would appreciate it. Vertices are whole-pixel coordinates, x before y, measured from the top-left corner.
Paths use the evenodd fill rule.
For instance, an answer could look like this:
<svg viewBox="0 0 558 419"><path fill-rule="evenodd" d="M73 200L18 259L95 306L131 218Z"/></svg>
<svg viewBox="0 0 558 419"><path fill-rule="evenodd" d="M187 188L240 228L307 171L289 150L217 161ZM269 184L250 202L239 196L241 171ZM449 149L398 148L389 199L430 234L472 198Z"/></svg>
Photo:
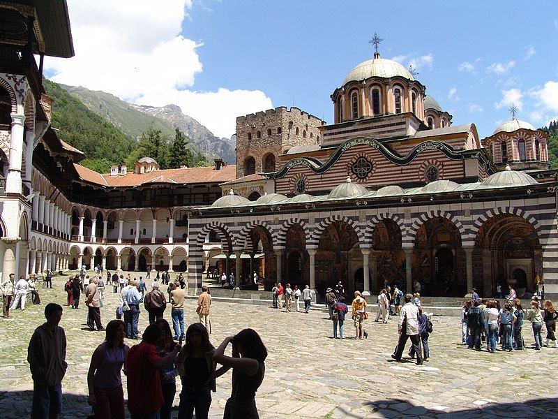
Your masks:
<svg viewBox="0 0 558 419"><path fill-rule="evenodd" d="M232 356L225 355L225 348L232 344ZM238 334L226 337L215 351L213 360L232 368L231 397L225 404L225 419L259 418L256 408L256 392L265 374L264 361L267 349L257 332L252 329L241 330Z"/></svg>

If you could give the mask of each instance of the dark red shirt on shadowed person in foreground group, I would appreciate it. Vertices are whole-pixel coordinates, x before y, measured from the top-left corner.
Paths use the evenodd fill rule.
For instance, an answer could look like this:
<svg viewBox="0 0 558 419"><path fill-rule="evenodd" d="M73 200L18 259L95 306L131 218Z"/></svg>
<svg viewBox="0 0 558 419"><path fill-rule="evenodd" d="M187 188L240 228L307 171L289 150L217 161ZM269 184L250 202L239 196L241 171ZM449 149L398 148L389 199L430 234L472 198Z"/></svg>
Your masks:
<svg viewBox="0 0 558 419"><path fill-rule="evenodd" d="M160 372L153 365L160 358L157 348L145 342L132 346L128 351L126 375L130 413L151 413L163 406Z"/></svg>

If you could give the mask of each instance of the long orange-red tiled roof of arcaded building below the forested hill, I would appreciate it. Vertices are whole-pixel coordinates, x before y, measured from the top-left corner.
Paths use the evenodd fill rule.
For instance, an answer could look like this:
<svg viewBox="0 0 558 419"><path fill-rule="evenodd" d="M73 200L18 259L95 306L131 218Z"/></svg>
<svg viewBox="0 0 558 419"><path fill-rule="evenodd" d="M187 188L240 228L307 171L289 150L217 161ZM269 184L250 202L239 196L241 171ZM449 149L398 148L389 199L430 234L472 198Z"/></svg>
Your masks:
<svg viewBox="0 0 558 419"><path fill-rule="evenodd" d="M213 166L204 168L183 168L154 170L149 173L127 173L126 175L111 176L110 173L100 174L83 166L74 164L80 178L86 182L103 186L140 186L149 183L169 184L205 184L229 182L236 177L236 166L228 165L220 170Z"/></svg>

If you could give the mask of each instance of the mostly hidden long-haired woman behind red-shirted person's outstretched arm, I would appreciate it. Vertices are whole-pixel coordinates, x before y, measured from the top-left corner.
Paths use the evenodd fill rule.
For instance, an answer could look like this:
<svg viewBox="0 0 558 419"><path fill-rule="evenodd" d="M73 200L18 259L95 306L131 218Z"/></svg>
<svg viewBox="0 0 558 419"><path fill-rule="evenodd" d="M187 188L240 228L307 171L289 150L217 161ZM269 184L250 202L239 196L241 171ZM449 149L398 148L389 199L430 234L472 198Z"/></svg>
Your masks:
<svg viewBox="0 0 558 419"><path fill-rule="evenodd" d="M161 339L157 345L160 353L167 356L174 351L176 342L172 340L172 332L170 330L169 322L164 318L158 318L155 324L161 330ZM163 369L161 369L161 391L163 392L163 406L161 406L160 419L170 419L172 411L172 402L174 402L174 395L176 395L176 376L178 372L175 367L175 360L178 355L169 362Z"/></svg>

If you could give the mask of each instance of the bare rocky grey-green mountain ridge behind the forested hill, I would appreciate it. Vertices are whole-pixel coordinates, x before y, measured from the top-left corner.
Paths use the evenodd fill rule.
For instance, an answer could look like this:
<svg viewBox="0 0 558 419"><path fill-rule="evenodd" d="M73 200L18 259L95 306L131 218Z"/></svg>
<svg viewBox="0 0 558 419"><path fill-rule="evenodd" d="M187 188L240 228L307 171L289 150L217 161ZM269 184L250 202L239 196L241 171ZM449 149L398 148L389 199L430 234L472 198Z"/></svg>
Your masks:
<svg viewBox="0 0 558 419"><path fill-rule="evenodd" d="M87 108L104 117L126 133L130 138L140 138L151 125L161 131L163 138L174 138L174 128L179 128L188 138L193 152L206 154L211 160L220 156L225 163L234 163L236 154L234 142L218 138L195 119L183 115L176 105L162 108L133 105L104 91L93 91L85 87L74 87L61 84L71 95L79 98Z"/></svg>

